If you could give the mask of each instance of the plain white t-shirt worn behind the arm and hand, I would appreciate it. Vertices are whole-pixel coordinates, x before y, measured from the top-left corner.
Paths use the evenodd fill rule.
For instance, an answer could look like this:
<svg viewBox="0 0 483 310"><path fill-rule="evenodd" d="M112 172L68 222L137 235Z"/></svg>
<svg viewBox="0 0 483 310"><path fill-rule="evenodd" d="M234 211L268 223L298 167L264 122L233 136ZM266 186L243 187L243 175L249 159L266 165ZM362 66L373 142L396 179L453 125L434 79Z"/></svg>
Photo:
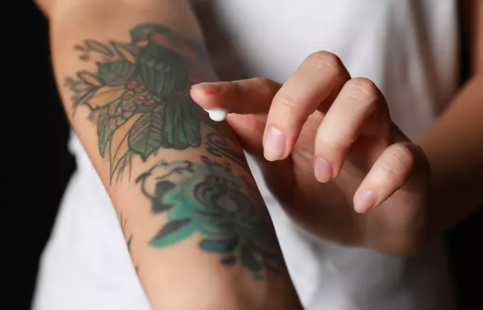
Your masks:
<svg viewBox="0 0 483 310"><path fill-rule="evenodd" d="M380 87L395 123L412 138L433 123L457 87L453 0L193 3L223 80L284 82L308 54L328 50L353 77ZM112 204L75 136L70 150L77 172L41 260L34 309L150 309ZM455 309L442 243L403 259L313 238L284 214L249 162L306 309Z"/></svg>

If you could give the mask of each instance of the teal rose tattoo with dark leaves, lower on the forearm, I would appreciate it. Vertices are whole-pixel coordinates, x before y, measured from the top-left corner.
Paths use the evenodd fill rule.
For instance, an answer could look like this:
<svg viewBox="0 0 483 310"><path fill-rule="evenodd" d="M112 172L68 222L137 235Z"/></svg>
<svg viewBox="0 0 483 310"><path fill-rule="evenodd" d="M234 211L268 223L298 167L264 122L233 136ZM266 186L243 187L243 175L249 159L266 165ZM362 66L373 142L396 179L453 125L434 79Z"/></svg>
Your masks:
<svg viewBox="0 0 483 310"><path fill-rule="evenodd" d="M253 196L255 183L229 165L204 156L199 163L161 160L136 182L152 212L168 218L150 240L152 247L170 247L197 232L200 249L219 255L226 266L249 269L257 280L279 269L276 236Z"/></svg>

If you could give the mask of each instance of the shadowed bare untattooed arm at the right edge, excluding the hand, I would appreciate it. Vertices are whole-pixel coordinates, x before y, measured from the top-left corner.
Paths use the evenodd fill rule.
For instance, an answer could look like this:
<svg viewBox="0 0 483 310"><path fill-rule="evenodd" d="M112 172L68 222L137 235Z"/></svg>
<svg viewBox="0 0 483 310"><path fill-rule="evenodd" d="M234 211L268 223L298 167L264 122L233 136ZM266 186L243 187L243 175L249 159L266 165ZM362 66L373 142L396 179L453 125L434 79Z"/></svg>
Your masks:
<svg viewBox="0 0 483 310"><path fill-rule="evenodd" d="M447 229L483 203L483 2L464 1L473 72L419 143L431 164L434 231Z"/></svg>

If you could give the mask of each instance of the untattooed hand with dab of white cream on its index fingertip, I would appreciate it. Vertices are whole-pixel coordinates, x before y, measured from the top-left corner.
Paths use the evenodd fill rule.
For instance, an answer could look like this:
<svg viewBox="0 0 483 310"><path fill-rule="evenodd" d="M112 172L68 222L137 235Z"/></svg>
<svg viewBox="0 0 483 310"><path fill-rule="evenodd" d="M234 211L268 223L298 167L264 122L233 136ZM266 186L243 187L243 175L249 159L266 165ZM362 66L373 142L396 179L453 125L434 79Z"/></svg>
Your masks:
<svg viewBox="0 0 483 310"><path fill-rule="evenodd" d="M375 84L351 79L334 54L311 54L284 85L201 83L191 96L228 111L268 188L302 227L390 255L422 245L427 158L391 121Z"/></svg>

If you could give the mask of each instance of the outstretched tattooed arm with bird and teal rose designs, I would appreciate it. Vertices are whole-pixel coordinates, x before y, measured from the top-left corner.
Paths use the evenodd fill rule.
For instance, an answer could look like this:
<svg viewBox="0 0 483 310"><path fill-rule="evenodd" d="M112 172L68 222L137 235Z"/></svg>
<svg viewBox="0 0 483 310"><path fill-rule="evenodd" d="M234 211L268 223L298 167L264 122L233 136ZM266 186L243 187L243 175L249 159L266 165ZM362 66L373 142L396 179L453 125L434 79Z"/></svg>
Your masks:
<svg viewBox="0 0 483 310"><path fill-rule="evenodd" d="M39 1L66 113L117 211L153 309L298 309L185 1Z"/></svg>

